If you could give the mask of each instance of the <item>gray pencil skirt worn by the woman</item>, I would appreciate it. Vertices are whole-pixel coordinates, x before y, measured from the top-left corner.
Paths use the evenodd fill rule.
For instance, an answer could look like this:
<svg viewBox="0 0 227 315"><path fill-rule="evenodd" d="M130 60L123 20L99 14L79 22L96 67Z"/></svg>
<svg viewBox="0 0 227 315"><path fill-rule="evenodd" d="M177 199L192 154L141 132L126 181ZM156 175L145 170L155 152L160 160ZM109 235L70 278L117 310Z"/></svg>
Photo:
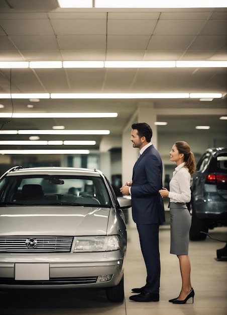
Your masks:
<svg viewBox="0 0 227 315"><path fill-rule="evenodd" d="M170 254L188 255L191 215L185 203L170 202Z"/></svg>

